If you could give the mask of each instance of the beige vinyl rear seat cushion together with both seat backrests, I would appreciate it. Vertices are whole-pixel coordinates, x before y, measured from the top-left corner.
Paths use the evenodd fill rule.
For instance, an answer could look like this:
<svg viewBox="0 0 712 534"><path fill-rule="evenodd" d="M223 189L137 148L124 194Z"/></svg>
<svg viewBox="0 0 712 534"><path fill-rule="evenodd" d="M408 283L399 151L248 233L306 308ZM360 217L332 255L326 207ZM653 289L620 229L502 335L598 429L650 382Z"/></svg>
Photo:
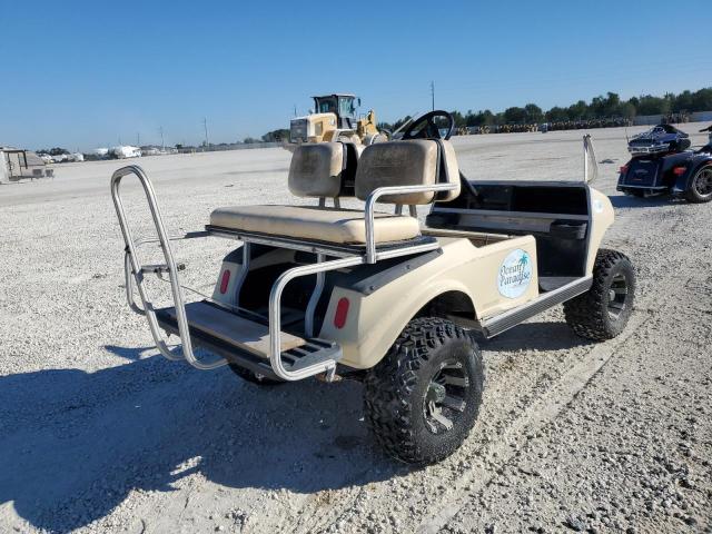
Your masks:
<svg viewBox="0 0 712 534"><path fill-rule="evenodd" d="M366 147L354 169L344 158L348 147L342 144L315 144L298 147L289 166L289 190L299 197L320 199L356 196L366 200L379 187L434 185L449 181L454 190L441 192L449 200L459 194L459 171L455 151L448 141L409 140L379 142ZM355 175L355 176L354 176ZM352 178L353 176L353 178ZM384 196L380 202L424 205L436 192ZM319 206L231 206L210 215L210 226L234 231L264 234L336 245L366 243L365 214L359 209ZM376 212L376 244L404 241L421 235L415 217Z"/></svg>

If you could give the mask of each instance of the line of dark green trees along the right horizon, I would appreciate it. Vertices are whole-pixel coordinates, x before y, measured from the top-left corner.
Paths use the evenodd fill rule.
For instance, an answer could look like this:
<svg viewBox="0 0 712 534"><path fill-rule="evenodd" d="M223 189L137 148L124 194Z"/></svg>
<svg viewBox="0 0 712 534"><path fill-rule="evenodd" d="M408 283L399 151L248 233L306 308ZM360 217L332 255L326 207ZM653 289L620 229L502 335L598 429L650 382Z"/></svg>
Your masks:
<svg viewBox="0 0 712 534"><path fill-rule="evenodd" d="M683 91L679 95L668 92L662 97L644 95L622 100L615 92L594 97L591 102L578 100L568 107L554 106L544 111L535 103L524 107L511 107L501 112L490 109L465 113L451 111L457 128L485 127L503 125L538 125L542 122L566 122L580 120L596 120L609 118L633 119L645 115L685 115L695 111L712 110L712 87L699 91ZM380 122L378 129L396 130L409 117L396 120L393 123Z"/></svg>

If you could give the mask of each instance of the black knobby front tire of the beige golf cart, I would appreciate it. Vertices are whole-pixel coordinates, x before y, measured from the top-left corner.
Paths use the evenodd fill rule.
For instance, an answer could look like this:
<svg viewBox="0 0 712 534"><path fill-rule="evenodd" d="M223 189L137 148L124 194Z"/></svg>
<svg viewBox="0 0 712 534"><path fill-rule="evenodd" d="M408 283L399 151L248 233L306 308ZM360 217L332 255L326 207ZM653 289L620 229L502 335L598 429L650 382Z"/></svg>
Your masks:
<svg viewBox="0 0 712 534"><path fill-rule="evenodd" d="M617 316L610 313L611 288L616 278L625 278L627 294ZM613 339L621 334L633 310L635 270L633 264L616 250L602 248L593 266L593 285L586 293L564 303L566 324L581 337Z"/></svg>

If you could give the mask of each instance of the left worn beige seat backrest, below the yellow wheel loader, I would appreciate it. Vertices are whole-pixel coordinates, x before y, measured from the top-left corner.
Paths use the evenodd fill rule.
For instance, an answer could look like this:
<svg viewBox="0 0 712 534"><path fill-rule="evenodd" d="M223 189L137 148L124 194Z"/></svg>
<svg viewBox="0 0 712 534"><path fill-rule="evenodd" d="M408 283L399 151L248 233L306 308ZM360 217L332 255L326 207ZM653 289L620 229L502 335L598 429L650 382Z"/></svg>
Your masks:
<svg viewBox="0 0 712 534"><path fill-rule="evenodd" d="M358 155L349 142L298 146L289 164L289 190L297 197L353 197Z"/></svg>

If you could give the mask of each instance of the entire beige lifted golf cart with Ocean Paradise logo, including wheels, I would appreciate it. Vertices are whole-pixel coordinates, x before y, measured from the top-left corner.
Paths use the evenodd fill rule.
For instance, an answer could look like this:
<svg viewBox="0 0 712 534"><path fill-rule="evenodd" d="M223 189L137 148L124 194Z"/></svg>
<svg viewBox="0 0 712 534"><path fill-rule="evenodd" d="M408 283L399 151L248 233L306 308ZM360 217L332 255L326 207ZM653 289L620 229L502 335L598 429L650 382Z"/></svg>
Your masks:
<svg viewBox="0 0 712 534"><path fill-rule="evenodd" d="M219 207L204 229L176 238L238 241L212 296L190 303L150 180L137 166L117 170L130 307L164 356L199 369L227 364L263 386L363 380L366 422L390 455L412 464L446 457L482 402L476 332L490 338L563 303L576 334L609 339L625 327L635 289L629 259L599 249L613 222L605 195L586 182L473 184L458 170L453 129L449 113L433 111L403 140L360 154L342 142L299 146L288 187L318 205ZM152 241L135 240L127 222L120 184L129 175L146 192ZM350 197L365 207L342 208ZM431 206L423 227L416 206ZM160 246L165 264L140 260L147 243ZM168 279L172 306L154 304L149 275ZM179 337L179 355L161 330Z"/></svg>

